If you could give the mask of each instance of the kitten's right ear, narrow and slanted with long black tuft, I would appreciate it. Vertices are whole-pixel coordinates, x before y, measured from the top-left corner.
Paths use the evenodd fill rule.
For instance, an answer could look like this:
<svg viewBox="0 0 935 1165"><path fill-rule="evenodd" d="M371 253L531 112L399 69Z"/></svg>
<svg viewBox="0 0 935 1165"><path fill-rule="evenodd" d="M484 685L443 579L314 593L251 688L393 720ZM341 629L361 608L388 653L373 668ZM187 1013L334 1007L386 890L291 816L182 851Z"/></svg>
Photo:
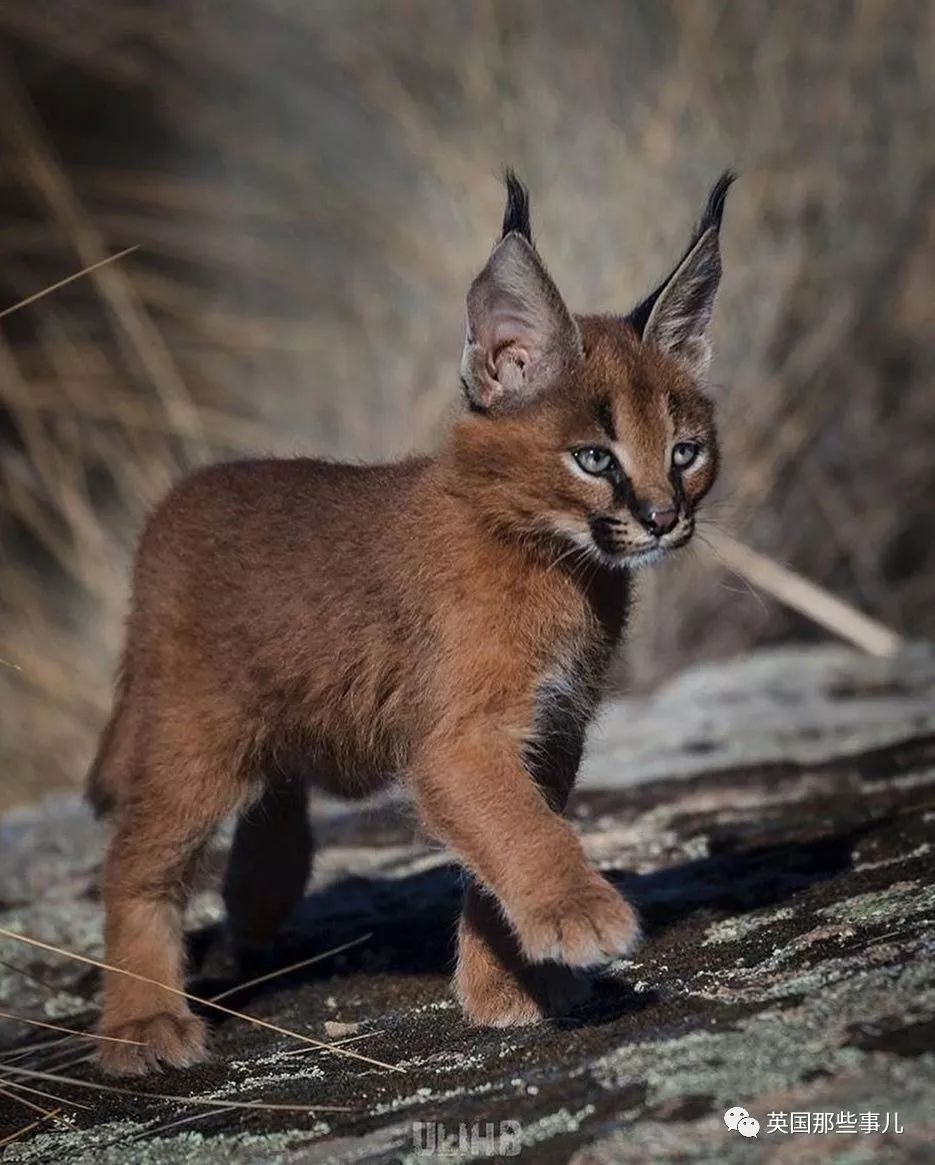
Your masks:
<svg viewBox="0 0 935 1165"><path fill-rule="evenodd" d="M721 175L704 214L674 271L626 317L644 344L678 360L703 380L711 358L714 298L721 282L721 218L735 176Z"/></svg>

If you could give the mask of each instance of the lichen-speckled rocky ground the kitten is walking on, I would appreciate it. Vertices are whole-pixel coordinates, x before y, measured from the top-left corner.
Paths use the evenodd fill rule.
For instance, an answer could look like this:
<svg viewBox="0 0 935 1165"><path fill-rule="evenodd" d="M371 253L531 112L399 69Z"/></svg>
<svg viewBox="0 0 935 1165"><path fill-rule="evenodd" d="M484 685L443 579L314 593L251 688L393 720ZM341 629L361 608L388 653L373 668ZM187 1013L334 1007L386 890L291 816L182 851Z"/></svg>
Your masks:
<svg viewBox="0 0 935 1165"><path fill-rule="evenodd" d="M86 1042L0 1021L3 1160L311 1165L431 1159L432 1145L576 1165L933 1159L932 650L891 663L771 652L616 701L572 812L646 927L574 1017L468 1029L446 983L456 871L398 806L327 807L313 891L275 959L368 937L225 1002L353 1039L342 1046L396 1071L227 1018L204 1068L98 1092L93 1066L76 1064ZM0 927L100 955L99 860L73 799L7 814ZM192 912L201 996L238 982L219 920L208 885ZM5 1012L93 1022L92 968L7 939L0 960ZM84 1086L49 1079L61 1075ZM725 1128L735 1106L759 1122L756 1139ZM809 1131L789 1131L793 1113Z"/></svg>

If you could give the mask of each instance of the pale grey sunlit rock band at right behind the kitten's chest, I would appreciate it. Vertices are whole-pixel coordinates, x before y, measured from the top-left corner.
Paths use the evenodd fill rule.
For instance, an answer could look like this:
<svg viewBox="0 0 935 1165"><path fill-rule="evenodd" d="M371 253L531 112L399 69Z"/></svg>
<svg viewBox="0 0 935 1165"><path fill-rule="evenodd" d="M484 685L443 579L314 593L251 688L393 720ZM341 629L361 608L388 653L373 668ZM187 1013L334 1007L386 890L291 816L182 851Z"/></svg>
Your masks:
<svg viewBox="0 0 935 1165"><path fill-rule="evenodd" d="M585 784L616 788L713 769L810 764L935 733L935 650L876 659L781 648L695 668L650 697L604 707Z"/></svg>

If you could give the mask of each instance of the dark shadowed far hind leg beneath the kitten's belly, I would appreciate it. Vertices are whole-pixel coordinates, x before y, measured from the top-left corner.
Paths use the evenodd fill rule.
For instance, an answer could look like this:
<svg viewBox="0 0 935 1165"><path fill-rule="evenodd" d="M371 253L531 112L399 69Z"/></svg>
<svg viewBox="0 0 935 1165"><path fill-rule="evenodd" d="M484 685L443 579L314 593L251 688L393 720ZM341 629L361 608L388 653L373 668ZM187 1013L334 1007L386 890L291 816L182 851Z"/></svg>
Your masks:
<svg viewBox="0 0 935 1165"><path fill-rule="evenodd" d="M235 949L269 946L305 892L312 867L307 789L298 778L271 778L243 811L224 883Z"/></svg>

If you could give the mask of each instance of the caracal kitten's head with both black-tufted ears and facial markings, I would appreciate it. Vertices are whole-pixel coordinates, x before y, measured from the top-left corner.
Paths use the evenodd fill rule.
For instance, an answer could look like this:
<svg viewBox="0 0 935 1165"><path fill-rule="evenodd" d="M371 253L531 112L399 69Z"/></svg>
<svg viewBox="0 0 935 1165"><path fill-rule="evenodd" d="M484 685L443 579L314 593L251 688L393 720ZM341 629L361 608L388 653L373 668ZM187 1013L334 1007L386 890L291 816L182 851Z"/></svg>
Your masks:
<svg viewBox="0 0 935 1165"><path fill-rule="evenodd" d="M636 566L683 545L714 483L706 394L725 174L672 274L626 316L573 316L507 176L501 239L468 292L459 479L502 532Z"/></svg>

